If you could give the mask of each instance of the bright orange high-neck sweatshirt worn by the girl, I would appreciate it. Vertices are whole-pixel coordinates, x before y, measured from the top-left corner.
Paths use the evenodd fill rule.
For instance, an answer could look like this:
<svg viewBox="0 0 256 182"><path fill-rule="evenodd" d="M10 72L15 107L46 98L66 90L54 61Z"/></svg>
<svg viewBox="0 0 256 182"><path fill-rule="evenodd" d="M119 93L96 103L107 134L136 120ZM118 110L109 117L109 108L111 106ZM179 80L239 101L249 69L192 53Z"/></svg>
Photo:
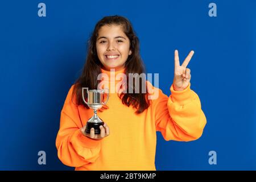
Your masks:
<svg viewBox="0 0 256 182"><path fill-rule="evenodd" d="M115 75L123 72L124 69ZM102 73L110 77L109 71L102 69ZM112 82L104 81L109 85ZM120 81L113 82L116 85ZM167 141L196 140L203 133L207 120L200 99L190 86L175 91L171 85L169 97L152 86L154 93L159 92L158 98L151 100L141 114L135 114L132 106L123 105L117 93L110 93L106 104L109 109L97 113L108 124L110 135L94 140L80 131L93 116L93 110L76 105L75 98L72 102L72 85L61 110L56 138L59 159L76 170L156 170L156 131Z"/></svg>

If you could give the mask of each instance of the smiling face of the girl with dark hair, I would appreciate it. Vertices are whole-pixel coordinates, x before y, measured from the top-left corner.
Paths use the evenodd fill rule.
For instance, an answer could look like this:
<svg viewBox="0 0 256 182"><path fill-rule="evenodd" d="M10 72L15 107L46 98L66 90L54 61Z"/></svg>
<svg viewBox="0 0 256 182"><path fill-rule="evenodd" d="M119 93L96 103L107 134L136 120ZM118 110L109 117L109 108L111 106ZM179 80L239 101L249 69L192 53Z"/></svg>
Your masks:
<svg viewBox="0 0 256 182"><path fill-rule="evenodd" d="M98 59L106 70L125 68L125 61L131 55L130 40L119 25L105 25L98 31L96 41Z"/></svg>

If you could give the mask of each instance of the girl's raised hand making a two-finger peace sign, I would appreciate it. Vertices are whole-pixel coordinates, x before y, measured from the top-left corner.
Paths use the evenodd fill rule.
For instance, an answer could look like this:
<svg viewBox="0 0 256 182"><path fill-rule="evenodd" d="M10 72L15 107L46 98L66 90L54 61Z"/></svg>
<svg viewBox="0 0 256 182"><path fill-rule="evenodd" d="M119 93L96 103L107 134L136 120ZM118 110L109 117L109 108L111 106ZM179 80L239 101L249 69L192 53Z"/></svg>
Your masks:
<svg viewBox="0 0 256 182"><path fill-rule="evenodd" d="M186 68L189 61L191 60L194 51L189 52L188 56L180 66L179 53L177 50L174 52L174 90L182 91L189 85L191 80L190 69Z"/></svg>

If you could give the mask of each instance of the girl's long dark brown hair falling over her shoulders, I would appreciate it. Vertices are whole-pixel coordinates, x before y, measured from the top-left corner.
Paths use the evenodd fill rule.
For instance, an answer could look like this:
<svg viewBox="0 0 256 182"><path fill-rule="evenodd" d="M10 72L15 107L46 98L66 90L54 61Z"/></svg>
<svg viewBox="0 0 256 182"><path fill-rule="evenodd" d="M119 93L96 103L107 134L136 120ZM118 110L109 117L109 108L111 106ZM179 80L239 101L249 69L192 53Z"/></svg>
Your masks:
<svg viewBox="0 0 256 182"><path fill-rule="evenodd" d="M123 16L118 15L105 16L94 27L94 31L88 42L88 52L84 68L82 69L82 74L75 82L73 96L76 96L77 105L84 105L86 108L89 109L89 107L82 101L82 87L97 89L97 86L100 83L100 80L97 80L97 77L101 73L101 68L103 68L103 65L101 64L97 56L96 40L98 37L98 31L102 26L113 24L121 26L123 32L130 40L130 50L132 53L128 56L125 62L125 74L127 76L127 82L129 82L129 73L138 73L138 75L140 75L141 73L145 73L143 61L139 54L139 39L135 35L135 32L129 20ZM122 100L122 104L125 104L127 106L132 105L135 109L137 109L137 111L135 111L135 113L137 114L142 113L150 105L150 101L147 97L147 87L145 87L146 93L141 92L143 84L146 84L146 82L143 82L142 80L143 79L139 78L139 93L129 93L129 86L127 86L127 92L118 95L119 98L121 98ZM135 90L134 88L135 87L133 85L133 91Z"/></svg>

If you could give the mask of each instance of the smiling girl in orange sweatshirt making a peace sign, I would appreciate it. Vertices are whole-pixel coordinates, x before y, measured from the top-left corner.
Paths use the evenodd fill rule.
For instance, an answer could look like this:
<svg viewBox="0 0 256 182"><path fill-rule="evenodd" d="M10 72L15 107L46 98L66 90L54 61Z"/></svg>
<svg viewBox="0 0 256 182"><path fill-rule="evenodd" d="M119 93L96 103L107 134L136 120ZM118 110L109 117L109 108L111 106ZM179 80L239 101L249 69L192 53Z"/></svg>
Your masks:
<svg viewBox="0 0 256 182"><path fill-rule="evenodd" d="M193 51L183 64L175 51L174 80L171 95L146 84L146 93L131 93L129 86L119 84L119 73L144 73L139 54L139 40L129 20L122 16L106 16L94 28L89 41L82 75L71 86L61 110L60 129L56 138L61 162L76 170L156 170L156 131L165 140L191 141L201 137L206 118L199 97L190 89L187 67ZM98 79L105 73L107 79ZM85 133L86 122L93 110L82 101L82 88L97 89L98 84L115 85L122 92L109 93L109 100L98 116L105 122L101 133ZM135 90L133 88L133 90ZM140 89L141 90L141 89ZM154 90L154 92L149 91ZM127 92L124 92L127 91ZM149 96L158 92L158 97Z"/></svg>

